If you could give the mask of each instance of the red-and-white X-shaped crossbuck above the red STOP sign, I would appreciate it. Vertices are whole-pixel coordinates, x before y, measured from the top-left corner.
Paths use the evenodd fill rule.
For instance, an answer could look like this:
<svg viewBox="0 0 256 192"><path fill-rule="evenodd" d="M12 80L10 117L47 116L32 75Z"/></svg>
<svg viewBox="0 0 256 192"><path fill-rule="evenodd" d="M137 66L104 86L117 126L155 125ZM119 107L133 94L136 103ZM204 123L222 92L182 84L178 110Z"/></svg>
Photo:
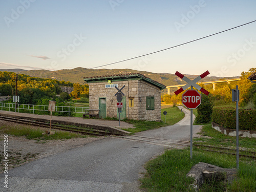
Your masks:
<svg viewBox="0 0 256 192"><path fill-rule="evenodd" d="M182 88L178 89L175 93L175 95L178 95L179 93L183 92L184 90L188 89L190 86L193 86L194 88L198 89L199 91L201 91L202 93L204 93L205 95L209 95L209 92L206 91L204 88L200 87L196 82L198 82L199 80L201 80L202 78L206 77L207 75L209 75L209 71L204 72L202 75L199 75L197 78L190 80L189 78L187 78L186 76L182 75L181 73L179 73L178 71L176 71L175 75L177 75L178 77L180 77L182 80L186 81L187 84L185 86L183 86Z"/></svg>

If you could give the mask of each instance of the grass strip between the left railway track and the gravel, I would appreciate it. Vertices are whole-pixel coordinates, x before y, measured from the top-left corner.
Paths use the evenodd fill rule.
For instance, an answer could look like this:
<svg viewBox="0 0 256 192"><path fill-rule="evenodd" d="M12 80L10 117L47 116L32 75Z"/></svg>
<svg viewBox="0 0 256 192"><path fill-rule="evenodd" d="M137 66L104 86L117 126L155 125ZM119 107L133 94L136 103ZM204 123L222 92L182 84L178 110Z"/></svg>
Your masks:
<svg viewBox="0 0 256 192"><path fill-rule="evenodd" d="M88 136L75 134L70 132L55 131L54 135L42 135L45 130L32 129L29 126L7 126L3 125L0 127L0 133L14 135L17 137L25 136L27 139L36 140L56 140L56 139L71 139L77 137L86 138Z"/></svg>

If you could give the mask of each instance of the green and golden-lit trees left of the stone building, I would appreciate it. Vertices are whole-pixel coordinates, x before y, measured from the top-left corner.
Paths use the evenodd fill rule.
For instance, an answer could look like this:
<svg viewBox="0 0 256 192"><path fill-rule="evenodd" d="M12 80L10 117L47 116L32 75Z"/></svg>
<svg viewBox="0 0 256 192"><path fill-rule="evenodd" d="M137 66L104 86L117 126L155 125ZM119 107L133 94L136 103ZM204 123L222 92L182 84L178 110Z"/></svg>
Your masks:
<svg viewBox="0 0 256 192"><path fill-rule="evenodd" d="M16 73L0 72L0 94L2 96L15 95ZM74 90L69 95L61 90L61 86L73 87ZM31 77L29 75L18 74L17 91L19 102L23 104L47 104L49 100L56 100L58 103L79 97L89 98L89 86L72 83L70 81L58 81L55 79L45 79ZM56 97L59 95L59 97ZM44 102L43 102L44 101Z"/></svg>

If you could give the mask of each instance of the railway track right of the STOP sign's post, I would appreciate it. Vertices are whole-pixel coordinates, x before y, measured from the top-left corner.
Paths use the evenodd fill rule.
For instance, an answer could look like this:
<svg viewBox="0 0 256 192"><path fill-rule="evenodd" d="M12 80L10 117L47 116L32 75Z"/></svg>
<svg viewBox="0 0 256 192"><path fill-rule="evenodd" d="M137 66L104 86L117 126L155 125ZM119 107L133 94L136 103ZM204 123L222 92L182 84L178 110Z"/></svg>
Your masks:
<svg viewBox="0 0 256 192"><path fill-rule="evenodd" d="M200 144L193 144L193 146L197 146L200 150L207 151L207 152L237 155L237 153L231 153L231 151L233 151L233 152L237 151L236 149L233 149L233 148L210 146L210 145L200 145ZM208 148L215 148L216 150L209 150ZM247 155L245 155L245 154L247 154ZM239 157L247 157L247 158L256 159L256 152L239 150Z"/></svg>

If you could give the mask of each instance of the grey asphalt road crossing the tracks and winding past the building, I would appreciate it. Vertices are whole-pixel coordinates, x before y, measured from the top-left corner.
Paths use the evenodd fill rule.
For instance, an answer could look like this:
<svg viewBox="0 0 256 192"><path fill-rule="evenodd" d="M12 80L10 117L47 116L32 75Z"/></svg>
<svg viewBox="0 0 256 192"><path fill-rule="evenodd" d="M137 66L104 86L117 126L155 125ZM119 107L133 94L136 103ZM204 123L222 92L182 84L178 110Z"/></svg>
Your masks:
<svg viewBox="0 0 256 192"><path fill-rule="evenodd" d="M185 118L177 124L136 136L189 141L190 112L184 108L183 112ZM200 129L200 125L193 126L194 133ZM166 148L154 143L106 137L9 170L9 188L5 189L1 182L0 191L140 191L138 179L143 164ZM4 174L0 176L4 178Z"/></svg>

